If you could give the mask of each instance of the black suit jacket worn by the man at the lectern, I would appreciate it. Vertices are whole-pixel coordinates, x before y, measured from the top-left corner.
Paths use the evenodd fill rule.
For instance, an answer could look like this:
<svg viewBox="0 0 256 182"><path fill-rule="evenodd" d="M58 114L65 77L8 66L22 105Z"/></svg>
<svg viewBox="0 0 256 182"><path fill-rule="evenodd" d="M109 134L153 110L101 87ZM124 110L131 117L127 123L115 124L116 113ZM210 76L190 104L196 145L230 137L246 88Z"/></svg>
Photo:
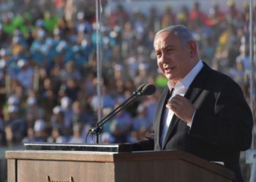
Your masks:
<svg viewBox="0 0 256 182"><path fill-rule="evenodd" d="M192 127L174 115L161 146L162 116L169 97L165 87L157 103L154 132L135 143L134 149L187 151L208 161L224 162L236 173L236 181L243 181L239 156L251 145L253 119L241 87L204 63L184 95L197 109Z"/></svg>

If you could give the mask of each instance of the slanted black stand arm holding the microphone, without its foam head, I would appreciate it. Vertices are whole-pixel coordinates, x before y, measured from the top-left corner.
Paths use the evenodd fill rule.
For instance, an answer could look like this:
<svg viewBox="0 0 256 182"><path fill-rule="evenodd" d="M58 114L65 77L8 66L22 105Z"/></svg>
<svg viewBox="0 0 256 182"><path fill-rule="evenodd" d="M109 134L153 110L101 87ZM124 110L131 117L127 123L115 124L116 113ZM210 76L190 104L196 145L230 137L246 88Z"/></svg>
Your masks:
<svg viewBox="0 0 256 182"><path fill-rule="evenodd" d="M102 125L105 124L106 122L108 122L109 119L113 118L113 116L116 116L116 114L118 114L119 111L121 111L125 106L128 106L129 103L132 103L133 100L135 100L136 98L138 98L140 96L141 92L140 90L136 90L135 92L132 93L132 96L130 98L128 98L127 100L124 101L124 103L121 103L120 106L118 106L117 108L115 108L113 111L110 112L110 114L108 114L107 116L105 116L103 119L101 119L96 125L95 127L91 128L89 130L89 132L91 134L96 134L96 143L99 143L99 135L102 132Z"/></svg>

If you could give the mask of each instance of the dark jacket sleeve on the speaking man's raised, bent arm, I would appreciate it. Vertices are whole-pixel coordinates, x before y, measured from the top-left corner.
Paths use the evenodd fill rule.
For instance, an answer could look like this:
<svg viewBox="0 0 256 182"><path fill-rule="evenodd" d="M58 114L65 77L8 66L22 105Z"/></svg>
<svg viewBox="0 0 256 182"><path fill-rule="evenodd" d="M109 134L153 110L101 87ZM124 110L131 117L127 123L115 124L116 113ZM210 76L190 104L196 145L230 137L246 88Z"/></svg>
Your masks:
<svg viewBox="0 0 256 182"><path fill-rule="evenodd" d="M223 149L244 151L252 142L252 111L236 82L225 82L221 90L211 92L211 106L197 108L189 135Z"/></svg>

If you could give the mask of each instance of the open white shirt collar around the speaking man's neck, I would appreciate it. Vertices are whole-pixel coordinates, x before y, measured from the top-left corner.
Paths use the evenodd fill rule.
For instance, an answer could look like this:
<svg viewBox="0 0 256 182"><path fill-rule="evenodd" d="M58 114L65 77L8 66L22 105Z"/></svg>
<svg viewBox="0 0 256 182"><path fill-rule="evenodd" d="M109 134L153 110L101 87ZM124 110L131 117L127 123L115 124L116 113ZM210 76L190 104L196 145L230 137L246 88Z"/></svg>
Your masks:
<svg viewBox="0 0 256 182"><path fill-rule="evenodd" d="M178 92L186 92L190 84L195 79L195 76L197 76L202 68L203 62L202 60L199 60L198 63L192 68L192 70L189 71L189 73L183 79L181 79L181 81L177 82L176 84L169 81L167 82L167 87L169 87L169 90L172 90L174 88L174 90L177 90Z"/></svg>

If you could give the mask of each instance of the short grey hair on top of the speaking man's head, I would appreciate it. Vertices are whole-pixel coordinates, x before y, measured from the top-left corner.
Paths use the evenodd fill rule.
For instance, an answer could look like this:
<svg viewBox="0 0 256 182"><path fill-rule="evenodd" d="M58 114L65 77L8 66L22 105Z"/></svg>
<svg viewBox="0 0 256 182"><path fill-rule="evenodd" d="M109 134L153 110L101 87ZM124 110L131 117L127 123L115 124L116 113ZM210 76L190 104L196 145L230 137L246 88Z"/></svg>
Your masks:
<svg viewBox="0 0 256 182"><path fill-rule="evenodd" d="M192 33L189 31L187 27L184 25L170 25L167 28L162 29L156 33L156 36L163 32L170 32L173 33L181 40L184 46L187 46L189 41L195 41L193 39Z"/></svg>

